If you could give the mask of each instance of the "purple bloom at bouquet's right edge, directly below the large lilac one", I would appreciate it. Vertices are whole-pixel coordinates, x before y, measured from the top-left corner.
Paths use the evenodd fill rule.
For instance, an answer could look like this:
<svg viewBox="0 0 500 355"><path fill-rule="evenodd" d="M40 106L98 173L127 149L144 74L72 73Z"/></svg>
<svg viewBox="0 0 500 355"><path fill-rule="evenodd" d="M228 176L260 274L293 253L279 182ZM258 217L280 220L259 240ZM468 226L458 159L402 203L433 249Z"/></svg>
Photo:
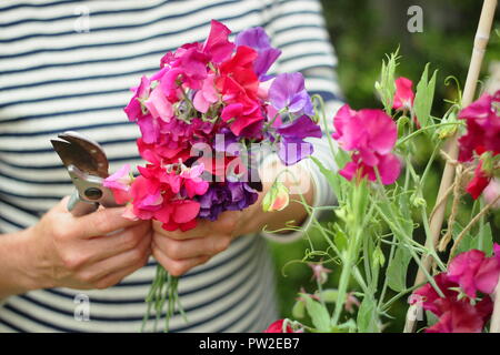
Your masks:
<svg viewBox="0 0 500 355"><path fill-rule="evenodd" d="M321 138L322 132L308 115L302 115L292 122L282 124L277 129L281 136L278 144L278 156L284 165L293 165L313 152L311 143L306 142L307 138Z"/></svg>

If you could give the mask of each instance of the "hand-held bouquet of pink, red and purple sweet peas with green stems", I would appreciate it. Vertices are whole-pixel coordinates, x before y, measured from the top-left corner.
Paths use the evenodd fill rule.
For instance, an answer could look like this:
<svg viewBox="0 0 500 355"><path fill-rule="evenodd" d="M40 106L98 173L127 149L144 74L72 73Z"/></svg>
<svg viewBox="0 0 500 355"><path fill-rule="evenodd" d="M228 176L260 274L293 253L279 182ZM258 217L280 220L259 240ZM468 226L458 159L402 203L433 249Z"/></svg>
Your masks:
<svg viewBox="0 0 500 355"><path fill-rule="evenodd" d="M148 164L138 166L137 178L126 165L106 181L117 202L128 203L127 216L188 231L198 219L241 211L256 203L262 187L256 169L261 150L249 146L267 143L292 165L312 153L307 138L321 138L303 77L268 75L281 52L264 30L243 31L234 42L230 33L212 21L203 43L164 54L160 70L132 89L124 112L140 128L137 145ZM177 284L159 265L144 320L151 306L158 320L168 303L168 329L176 305L182 311Z"/></svg>

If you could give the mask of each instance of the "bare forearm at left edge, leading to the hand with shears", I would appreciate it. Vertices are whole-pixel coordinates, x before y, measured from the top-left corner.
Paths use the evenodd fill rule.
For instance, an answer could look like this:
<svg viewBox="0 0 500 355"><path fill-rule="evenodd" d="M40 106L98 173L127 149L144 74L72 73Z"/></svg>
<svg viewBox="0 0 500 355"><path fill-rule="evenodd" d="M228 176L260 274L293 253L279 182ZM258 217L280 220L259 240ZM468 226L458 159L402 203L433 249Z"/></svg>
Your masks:
<svg viewBox="0 0 500 355"><path fill-rule="evenodd" d="M28 231L0 235L0 300L37 288L28 243Z"/></svg>

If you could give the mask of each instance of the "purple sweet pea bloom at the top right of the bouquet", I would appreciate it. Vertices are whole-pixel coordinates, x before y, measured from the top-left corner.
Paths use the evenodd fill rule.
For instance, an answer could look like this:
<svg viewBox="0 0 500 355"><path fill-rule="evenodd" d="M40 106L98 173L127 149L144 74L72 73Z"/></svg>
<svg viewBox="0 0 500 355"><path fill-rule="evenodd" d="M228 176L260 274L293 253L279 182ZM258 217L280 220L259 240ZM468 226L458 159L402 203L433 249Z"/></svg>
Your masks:
<svg viewBox="0 0 500 355"><path fill-rule="evenodd" d="M259 57L253 63L253 70L260 81L269 80L270 77L266 75L266 73L281 55L281 51L271 47L271 41L264 29L257 27L239 33L236 44L238 47L247 45L257 51Z"/></svg>

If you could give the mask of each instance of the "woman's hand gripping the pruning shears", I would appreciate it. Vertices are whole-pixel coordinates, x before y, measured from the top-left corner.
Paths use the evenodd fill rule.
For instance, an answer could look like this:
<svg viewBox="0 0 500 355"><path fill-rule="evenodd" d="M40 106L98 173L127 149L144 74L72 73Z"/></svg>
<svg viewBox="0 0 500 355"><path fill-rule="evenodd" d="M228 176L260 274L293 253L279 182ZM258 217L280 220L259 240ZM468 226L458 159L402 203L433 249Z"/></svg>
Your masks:
<svg viewBox="0 0 500 355"><path fill-rule="evenodd" d="M151 253L150 222L123 219L123 207L74 217L67 204L68 197L21 233L22 250L18 252L24 256L18 257L17 267L29 281L26 291L107 288L147 263Z"/></svg>

